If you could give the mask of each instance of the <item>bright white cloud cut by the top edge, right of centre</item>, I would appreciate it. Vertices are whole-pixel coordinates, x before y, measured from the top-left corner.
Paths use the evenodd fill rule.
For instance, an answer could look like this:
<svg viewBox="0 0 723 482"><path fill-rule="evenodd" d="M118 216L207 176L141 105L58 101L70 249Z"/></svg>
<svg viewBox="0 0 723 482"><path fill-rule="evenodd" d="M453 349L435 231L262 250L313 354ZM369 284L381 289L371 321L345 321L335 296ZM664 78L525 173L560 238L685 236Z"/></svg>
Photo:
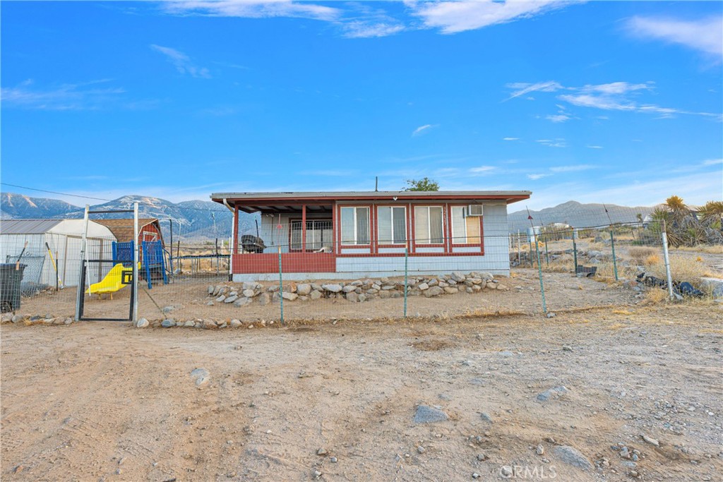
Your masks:
<svg viewBox="0 0 723 482"><path fill-rule="evenodd" d="M568 6L570 1L407 1L425 27L442 33L476 30L489 25L534 17Z"/></svg>

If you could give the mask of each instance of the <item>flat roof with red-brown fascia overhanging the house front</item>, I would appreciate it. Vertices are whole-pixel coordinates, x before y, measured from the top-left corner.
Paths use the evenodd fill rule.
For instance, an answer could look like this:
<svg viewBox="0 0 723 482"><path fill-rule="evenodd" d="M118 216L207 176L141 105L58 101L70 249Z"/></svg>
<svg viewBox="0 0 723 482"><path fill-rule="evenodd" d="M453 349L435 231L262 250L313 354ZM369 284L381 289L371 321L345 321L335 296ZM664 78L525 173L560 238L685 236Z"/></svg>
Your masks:
<svg viewBox="0 0 723 482"><path fill-rule="evenodd" d="M505 204L529 199L531 191L332 191L332 192L219 192L214 202L245 212L295 212L301 205L308 210L326 210L335 202L466 202L479 204L500 201Z"/></svg>

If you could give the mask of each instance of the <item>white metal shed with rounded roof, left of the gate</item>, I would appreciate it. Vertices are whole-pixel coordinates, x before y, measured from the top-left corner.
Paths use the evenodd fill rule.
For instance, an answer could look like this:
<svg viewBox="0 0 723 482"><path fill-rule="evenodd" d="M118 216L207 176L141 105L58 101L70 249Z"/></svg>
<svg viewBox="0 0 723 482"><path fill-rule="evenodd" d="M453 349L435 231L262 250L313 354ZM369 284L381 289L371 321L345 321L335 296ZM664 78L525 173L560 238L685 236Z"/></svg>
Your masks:
<svg viewBox="0 0 723 482"><path fill-rule="evenodd" d="M22 253L20 262L26 265L23 284L55 286L57 267L58 285L77 286L82 236L82 219L0 220L0 260L14 263ZM88 264L90 283L100 281L110 270L114 241L116 237L110 229L88 220L88 258L108 260L102 266Z"/></svg>

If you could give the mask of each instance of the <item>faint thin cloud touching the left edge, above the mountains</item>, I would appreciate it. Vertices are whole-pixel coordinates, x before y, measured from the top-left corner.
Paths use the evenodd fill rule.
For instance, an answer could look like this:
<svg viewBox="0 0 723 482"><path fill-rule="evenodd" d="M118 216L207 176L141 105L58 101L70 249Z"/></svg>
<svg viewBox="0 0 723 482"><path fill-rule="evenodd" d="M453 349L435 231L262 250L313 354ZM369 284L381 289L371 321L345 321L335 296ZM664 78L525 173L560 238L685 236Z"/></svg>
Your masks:
<svg viewBox="0 0 723 482"><path fill-rule="evenodd" d="M110 79L93 80L58 87L33 88L33 80L26 80L15 87L2 87L4 106L38 109L43 111L97 110L108 103L116 103L126 92L121 87L101 87Z"/></svg>

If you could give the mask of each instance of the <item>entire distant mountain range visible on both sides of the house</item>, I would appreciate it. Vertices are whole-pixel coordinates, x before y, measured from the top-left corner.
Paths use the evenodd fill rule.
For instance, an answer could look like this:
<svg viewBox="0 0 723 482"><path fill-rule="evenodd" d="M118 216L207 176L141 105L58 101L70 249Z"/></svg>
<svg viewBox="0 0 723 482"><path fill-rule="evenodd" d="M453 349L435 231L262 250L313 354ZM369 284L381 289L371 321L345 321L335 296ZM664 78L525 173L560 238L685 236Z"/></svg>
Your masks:
<svg viewBox="0 0 723 482"><path fill-rule="evenodd" d="M171 223L174 237L213 239L231 236L231 211L212 201L194 200L174 203L158 197L128 195L101 205L93 205L92 208L93 210L132 209L136 201L139 202L139 214L142 218L158 218L161 221L164 237L170 233ZM84 209L59 199L28 197L9 192L0 194L0 219L82 218ZM536 226L565 223L576 228L587 228L609 223L634 223L638 220L638 215L640 218L645 218L654 209L647 206L626 207L568 201L529 213L527 210L510 212L508 224L510 233L526 231L530 227L528 216L531 216L532 223ZM95 216L112 219L124 218L127 214L111 213ZM254 220L258 219L258 215L241 212L239 218L241 232L249 231L254 226Z"/></svg>

